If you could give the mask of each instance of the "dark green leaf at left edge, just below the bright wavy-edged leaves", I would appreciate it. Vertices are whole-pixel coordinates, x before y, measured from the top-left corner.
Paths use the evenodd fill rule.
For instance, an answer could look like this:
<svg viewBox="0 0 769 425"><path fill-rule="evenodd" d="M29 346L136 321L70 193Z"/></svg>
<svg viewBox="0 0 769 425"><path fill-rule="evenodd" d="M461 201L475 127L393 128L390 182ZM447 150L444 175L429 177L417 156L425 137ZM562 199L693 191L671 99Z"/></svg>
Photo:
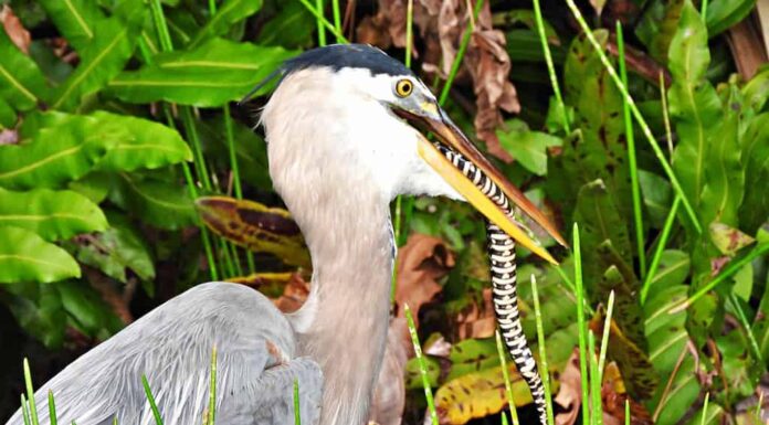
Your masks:
<svg viewBox="0 0 769 425"><path fill-rule="evenodd" d="M66 331L66 312L55 285L25 281L3 287L6 306L24 331L49 349L61 349Z"/></svg>

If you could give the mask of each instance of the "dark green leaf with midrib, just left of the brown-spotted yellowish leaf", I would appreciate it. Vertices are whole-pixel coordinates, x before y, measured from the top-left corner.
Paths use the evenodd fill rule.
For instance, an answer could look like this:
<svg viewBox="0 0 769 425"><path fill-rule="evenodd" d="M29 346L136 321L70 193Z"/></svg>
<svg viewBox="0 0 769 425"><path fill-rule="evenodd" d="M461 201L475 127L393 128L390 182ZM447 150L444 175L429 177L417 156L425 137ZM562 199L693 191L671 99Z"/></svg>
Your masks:
<svg viewBox="0 0 769 425"><path fill-rule="evenodd" d="M156 227L176 230L197 222L189 192L178 183L120 173L109 200Z"/></svg>

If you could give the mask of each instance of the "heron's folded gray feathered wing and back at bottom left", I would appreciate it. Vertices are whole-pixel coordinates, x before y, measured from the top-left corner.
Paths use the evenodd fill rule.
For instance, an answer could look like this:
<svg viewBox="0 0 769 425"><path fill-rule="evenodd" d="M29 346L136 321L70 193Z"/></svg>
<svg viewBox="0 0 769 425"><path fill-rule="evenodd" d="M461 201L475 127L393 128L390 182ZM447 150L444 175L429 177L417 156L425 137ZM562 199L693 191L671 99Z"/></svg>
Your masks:
<svg viewBox="0 0 769 425"><path fill-rule="evenodd" d="M59 423L99 425L117 416L120 424L154 425L141 385L145 374L166 425L200 424L208 406L214 346L218 424L284 424L249 408L267 406L267 400L293 392L294 379L309 397L303 403L308 406L306 423L313 423L309 406L319 404L313 400L320 400L322 389L317 364L276 358L276 352L287 359L295 355L286 318L257 291L223 283L186 291L70 364L35 393L40 423L50 423L51 390ZM304 380L309 387L302 385ZM234 415L228 418L228 412ZM22 423L17 412L7 425Z"/></svg>

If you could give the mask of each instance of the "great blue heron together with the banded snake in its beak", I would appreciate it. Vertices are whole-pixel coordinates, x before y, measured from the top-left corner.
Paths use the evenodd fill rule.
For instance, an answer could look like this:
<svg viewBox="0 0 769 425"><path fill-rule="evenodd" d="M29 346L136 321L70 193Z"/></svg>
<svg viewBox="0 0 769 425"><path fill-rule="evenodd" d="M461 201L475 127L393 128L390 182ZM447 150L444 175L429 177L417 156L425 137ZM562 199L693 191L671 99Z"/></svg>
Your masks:
<svg viewBox="0 0 769 425"><path fill-rule="evenodd" d="M275 190L310 251L306 304L284 316L250 288L199 285L43 385L35 394L41 424L49 423L49 390L59 423L110 424L116 417L120 424L154 424L143 374L166 424L199 424L214 346L219 424L292 424L295 381L305 424L364 424L388 330L396 254L389 204L398 194L466 200L492 223L497 242L491 246L499 251L492 263L495 290L506 297L497 312L507 320L514 360L528 368L536 385L525 340L516 346L523 332L515 294L505 286L515 281L512 244L498 241L513 236L554 259L508 216L507 198L560 240L555 227L477 151L428 87L383 52L366 45L316 49L286 62L278 74L261 123ZM414 126L440 141L429 141ZM8 424L22 424L20 413Z"/></svg>

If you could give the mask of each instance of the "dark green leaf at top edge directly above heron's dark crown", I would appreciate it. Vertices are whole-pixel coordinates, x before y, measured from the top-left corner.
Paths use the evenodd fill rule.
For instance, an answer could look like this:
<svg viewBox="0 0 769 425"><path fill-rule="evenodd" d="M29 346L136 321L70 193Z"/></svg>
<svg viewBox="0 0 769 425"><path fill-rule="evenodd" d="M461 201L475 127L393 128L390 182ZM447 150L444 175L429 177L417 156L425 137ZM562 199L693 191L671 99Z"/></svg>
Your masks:
<svg viewBox="0 0 769 425"><path fill-rule="evenodd" d="M259 45L280 45L286 49L307 47L313 43L317 26L315 17L299 1L275 3L280 11L259 32Z"/></svg>

